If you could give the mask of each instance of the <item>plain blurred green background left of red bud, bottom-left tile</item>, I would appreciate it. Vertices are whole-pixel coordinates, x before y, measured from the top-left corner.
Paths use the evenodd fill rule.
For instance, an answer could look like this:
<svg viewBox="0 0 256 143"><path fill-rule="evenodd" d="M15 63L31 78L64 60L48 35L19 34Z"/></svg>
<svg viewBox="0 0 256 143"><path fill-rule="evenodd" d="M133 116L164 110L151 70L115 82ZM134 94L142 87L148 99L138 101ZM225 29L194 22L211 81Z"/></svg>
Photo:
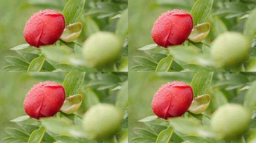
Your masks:
<svg viewBox="0 0 256 143"><path fill-rule="evenodd" d="M8 135L6 127L18 127L10 120L26 115L23 108L23 101L28 90L39 82L45 80L63 83L66 76L64 72L1 72L0 73L0 140Z"/></svg>

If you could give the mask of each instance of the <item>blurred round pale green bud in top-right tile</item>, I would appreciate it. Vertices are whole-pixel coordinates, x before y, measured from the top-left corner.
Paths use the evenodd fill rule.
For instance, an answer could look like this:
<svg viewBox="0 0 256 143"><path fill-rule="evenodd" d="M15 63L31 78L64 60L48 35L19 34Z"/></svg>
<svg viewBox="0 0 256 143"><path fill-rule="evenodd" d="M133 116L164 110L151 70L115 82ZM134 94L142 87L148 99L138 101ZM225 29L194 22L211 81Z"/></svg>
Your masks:
<svg viewBox="0 0 256 143"><path fill-rule="evenodd" d="M250 43L244 35L225 32L213 41L211 57L220 67L233 67L246 60L249 50Z"/></svg>

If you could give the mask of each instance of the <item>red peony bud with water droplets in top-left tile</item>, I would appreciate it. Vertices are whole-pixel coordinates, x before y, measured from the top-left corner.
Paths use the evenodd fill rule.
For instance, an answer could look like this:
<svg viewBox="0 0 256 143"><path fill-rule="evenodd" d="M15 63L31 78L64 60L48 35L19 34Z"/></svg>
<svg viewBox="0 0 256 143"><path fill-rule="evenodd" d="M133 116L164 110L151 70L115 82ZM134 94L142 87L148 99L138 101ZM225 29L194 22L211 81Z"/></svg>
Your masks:
<svg viewBox="0 0 256 143"><path fill-rule="evenodd" d="M23 35L28 44L39 47L54 44L65 28L64 16L50 9L34 13L28 19Z"/></svg>

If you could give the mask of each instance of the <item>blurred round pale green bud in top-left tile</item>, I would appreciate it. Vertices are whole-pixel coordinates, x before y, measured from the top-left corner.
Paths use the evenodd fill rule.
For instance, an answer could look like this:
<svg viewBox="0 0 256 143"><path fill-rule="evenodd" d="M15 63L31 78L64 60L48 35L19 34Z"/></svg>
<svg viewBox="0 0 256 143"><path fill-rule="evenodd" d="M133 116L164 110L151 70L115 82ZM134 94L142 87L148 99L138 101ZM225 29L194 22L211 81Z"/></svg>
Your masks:
<svg viewBox="0 0 256 143"><path fill-rule="evenodd" d="M122 42L113 33L97 32L83 44L83 55L91 66L104 66L118 60Z"/></svg>

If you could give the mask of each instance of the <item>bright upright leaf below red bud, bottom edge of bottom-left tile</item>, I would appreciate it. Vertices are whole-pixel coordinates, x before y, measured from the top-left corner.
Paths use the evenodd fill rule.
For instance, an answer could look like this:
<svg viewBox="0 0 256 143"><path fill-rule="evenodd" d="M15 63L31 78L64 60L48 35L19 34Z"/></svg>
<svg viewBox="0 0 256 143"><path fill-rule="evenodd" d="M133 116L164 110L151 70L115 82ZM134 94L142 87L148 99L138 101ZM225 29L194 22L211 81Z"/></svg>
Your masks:
<svg viewBox="0 0 256 143"><path fill-rule="evenodd" d="M37 130L34 130L28 139L28 143L40 143L43 139L43 135L45 134L45 131L46 131L46 128L43 126Z"/></svg>

